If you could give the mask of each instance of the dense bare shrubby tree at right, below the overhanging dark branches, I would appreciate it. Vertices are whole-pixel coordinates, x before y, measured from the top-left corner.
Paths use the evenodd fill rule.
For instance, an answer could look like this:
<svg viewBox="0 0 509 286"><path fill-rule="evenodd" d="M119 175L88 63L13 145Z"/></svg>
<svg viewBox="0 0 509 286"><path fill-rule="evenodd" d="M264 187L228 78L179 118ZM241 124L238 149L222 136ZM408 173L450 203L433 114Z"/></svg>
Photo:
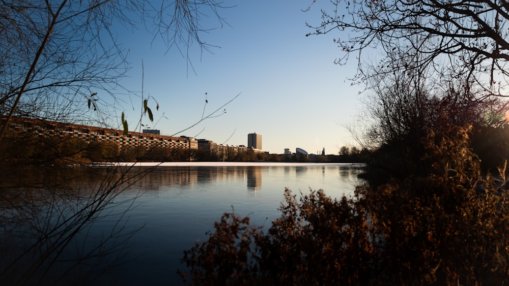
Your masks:
<svg viewBox="0 0 509 286"><path fill-rule="evenodd" d="M365 149L374 150L372 165L389 172L386 177L428 172L421 160L425 152L422 138L430 130L450 124L471 126L475 130L470 138L472 147L483 167L496 170L506 158L507 140L488 134L506 128L507 102L463 77L420 65L421 56L416 50L406 54L390 51L384 67L387 72L373 65L367 69L367 90L362 97L366 110L360 118L365 129L357 139ZM498 160L485 160L489 153L483 149L488 145L491 153L500 150L496 152Z"/></svg>

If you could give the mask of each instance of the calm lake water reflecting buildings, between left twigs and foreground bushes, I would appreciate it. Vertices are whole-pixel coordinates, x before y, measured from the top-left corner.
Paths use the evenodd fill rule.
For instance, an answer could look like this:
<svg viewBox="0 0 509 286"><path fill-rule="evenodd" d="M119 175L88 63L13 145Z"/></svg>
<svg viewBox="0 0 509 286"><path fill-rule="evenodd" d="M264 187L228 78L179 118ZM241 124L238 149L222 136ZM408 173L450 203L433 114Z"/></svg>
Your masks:
<svg viewBox="0 0 509 286"><path fill-rule="evenodd" d="M180 164L182 165L182 164ZM234 211L249 216L250 223L268 229L270 221L280 215L277 208L285 188L294 194L306 194L309 188L324 189L333 198L353 195L359 183L360 167L343 164L247 164L251 166L159 166L116 197L116 202L137 197L132 208L120 221L123 233L130 237L125 256L114 268L102 274L96 284L176 285L181 284L177 269L185 270L179 259L183 250L196 240L205 240L206 231L222 213ZM149 167L134 167L129 174ZM128 174L128 175L129 175ZM114 213L122 213L117 206ZM93 225L87 243L94 245L117 223L113 215ZM117 227L119 229L119 227ZM118 252L115 252L117 254ZM112 255L92 260L102 265ZM79 271L78 271L79 272Z"/></svg>

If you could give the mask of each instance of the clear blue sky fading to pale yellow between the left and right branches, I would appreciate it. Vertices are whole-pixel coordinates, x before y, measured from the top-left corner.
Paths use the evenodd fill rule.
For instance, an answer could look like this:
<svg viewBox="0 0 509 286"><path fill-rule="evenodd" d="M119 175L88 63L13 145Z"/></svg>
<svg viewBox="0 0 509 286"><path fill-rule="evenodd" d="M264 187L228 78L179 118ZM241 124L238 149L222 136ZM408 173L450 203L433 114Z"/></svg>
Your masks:
<svg viewBox="0 0 509 286"><path fill-rule="evenodd" d="M223 2L236 5L219 11L229 25L221 28L213 16L202 19L204 26L218 27L202 35L202 40L217 47L203 53L191 47L192 68L178 49L168 50L153 41L144 28L119 29L116 37L129 50L132 66L121 84L138 92L143 84L144 97L151 98L154 122L145 117L142 123L163 135L177 133L229 145L247 146L247 134L258 133L263 150L270 153L283 153L285 148L295 152L299 147L308 153L325 148L327 154L337 154L342 146L356 145L345 128L355 124L362 108L362 87L348 80L355 74L356 62L334 64L342 55L332 41L345 36L340 31L305 37L312 31L306 21L321 20L320 7L302 12L310 3ZM333 9L329 2L323 5ZM178 133L239 93L224 107L226 113ZM127 120L135 121L141 104L127 102L132 104L125 110Z"/></svg>

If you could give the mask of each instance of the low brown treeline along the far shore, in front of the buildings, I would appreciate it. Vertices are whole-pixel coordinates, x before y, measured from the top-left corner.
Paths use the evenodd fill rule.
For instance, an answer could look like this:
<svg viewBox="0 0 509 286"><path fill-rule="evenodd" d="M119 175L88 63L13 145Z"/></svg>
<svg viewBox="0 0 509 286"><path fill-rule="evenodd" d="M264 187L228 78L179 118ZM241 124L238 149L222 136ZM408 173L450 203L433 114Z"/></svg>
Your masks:
<svg viewBox="0 0 509 286"><path fill-rule="evenodd" d="M167 147L126 146L119 150L115 142L87 141L82 138L66 136L40 136L35 130L10 130L5 143L0 146L4 161L23 165L55 165L90 162L333 162L365 163L369 157L365 149L342 147L338 155L315 155L314 157L296 154L269 154L243 150L233 152L229 149L224 157L204 149L183 149Z"/></svg>

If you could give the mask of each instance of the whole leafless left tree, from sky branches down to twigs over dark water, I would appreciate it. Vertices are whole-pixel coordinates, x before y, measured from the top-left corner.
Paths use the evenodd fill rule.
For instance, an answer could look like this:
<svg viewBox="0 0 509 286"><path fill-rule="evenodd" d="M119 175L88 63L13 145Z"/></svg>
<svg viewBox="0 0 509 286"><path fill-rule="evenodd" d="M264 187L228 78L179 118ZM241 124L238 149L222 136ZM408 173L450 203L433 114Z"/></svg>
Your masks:
<svg viewBox="0 0 509 286"><path fill-rule="evenodd" d="M218 15L223 7L215 0L164 1L157 6L145 0L0 1L2 150L8 145L3 138L14 115L103 122L119 108L123 99L114 91L122 89L119 78L129 65L111 27L141 25L155 41L162 40L168 49L175 46L188 58L192 44L202 51L211 47L200 39L209 29L201 25L203 15L214 15L223 24ZM111 99L98 101L98 91L109 93ZM143 104L145 111L150 110L146 101ZM25 146L29 139L30 144L45 143L11 135L17 146ZM57 141L67 144L67 139ZM41 152L51 149L39 147ZM20 150L15 145L9 148ZM69 154L83 151L73 148ZM73 163L68 155L67 162ZM127 212L143 189L128 199L119 195L150 169L34 168L13 164L15 156L8 159L0 163L1 284L68 284L66 275L76 265L125 253L125 242L136 232L125 228ZM92 226L106 218L116 224L101 235L92 234ZM72 249L75 256L69 254Z"/></svg>

